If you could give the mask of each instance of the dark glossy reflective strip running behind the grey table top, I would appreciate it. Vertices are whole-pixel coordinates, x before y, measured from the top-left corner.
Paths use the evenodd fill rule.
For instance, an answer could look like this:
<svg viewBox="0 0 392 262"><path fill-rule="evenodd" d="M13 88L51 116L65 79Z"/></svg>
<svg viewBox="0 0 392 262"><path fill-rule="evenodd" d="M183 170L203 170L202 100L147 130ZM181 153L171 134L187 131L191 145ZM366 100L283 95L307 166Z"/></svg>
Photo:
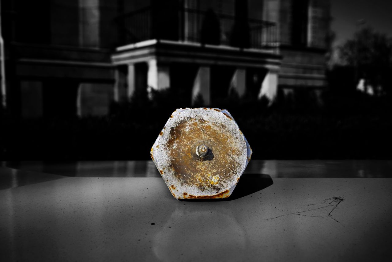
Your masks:
<svg viewBox="0 0 392 262"><path fill-rule="evenodd" d="M3 161L0 166L62 176L161 177L152 161ZM244 174L272 178L392 178L391 160L254 160Z"/></svg>

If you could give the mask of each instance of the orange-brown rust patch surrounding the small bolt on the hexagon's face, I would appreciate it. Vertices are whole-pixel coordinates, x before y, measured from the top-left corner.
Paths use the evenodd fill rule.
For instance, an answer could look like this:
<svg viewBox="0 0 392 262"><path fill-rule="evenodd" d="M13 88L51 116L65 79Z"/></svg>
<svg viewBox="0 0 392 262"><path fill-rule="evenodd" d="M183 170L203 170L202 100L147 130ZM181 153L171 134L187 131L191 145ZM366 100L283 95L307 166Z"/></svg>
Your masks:
<svg viewBox="0 0 392 262"><path fill-rule="evenodd" d="M171 152L169 165L175 176L187 185L194 185L201 191L212 188L217 192L226 188L225 183L236 170L242 148L233 147L236 138L225 132L225 128L216 123L200 122L199 119L184 119L170 128L167 144L161 145ZM205 141L211 148L213 158L200 161L196 148L200 141ZM175 148L181 148L176 150ZM211 183L212 177L220 176L220 183ZM205 198L222 198L206 196Z"/></svg>

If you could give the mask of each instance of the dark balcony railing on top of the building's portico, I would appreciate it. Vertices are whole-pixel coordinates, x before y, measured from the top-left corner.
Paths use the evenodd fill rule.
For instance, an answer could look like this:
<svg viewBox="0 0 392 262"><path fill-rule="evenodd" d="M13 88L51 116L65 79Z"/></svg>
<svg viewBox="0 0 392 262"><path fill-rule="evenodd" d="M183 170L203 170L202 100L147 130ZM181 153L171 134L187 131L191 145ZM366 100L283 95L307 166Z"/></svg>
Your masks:
<svg viewBox="0 0 392 262"><path fill-rule="evenodd" d="M165 39L256 49L278 46L276 23L211 10L146 7L119 16L116 21L121 44Z"/></svg>

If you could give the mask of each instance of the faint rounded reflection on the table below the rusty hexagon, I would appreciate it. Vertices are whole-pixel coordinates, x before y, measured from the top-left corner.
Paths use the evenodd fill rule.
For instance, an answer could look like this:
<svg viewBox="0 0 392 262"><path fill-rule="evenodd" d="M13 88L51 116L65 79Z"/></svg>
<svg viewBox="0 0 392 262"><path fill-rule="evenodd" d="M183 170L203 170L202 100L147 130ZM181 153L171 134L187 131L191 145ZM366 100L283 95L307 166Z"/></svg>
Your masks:
<svg viewBox="0 0 392 262"><path fill-rule="evenodd" d="M234 261L232 252L243 253L246 240L243 227L230 210L189 205L173 211L154 236L152 249L156 258L165 262Z"/></svg>

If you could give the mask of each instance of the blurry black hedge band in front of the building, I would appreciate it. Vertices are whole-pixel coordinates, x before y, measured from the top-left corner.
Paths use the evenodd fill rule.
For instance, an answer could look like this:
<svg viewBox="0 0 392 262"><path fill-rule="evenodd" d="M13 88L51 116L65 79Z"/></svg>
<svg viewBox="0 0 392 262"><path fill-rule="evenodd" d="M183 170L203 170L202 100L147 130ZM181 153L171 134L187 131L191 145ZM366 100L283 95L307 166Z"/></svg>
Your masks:
<svg viewBox="0 0 392 262"><path fill-rule="evenodd" d="M149 159L149 151L176 108L189 107L172 90L136 93L113 103L107 117L0 119L1 160ZM385 159L391 157L391 106L387 97L325 92L320 106L297 92L266 99L233 93L212 106L227 109L247 137L253 159ZM202 103L202 101L200 101Z"/></svg>

